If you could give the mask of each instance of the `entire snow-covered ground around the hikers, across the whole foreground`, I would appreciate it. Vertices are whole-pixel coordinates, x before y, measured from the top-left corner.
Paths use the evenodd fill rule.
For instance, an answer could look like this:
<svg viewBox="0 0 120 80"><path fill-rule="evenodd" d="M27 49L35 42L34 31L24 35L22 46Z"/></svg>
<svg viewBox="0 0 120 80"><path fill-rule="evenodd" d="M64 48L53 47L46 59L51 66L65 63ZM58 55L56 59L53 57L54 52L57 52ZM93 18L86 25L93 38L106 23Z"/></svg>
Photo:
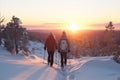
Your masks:
<svg viewBox="0 0 120 80"><path fill-rule="evenodd" d="M69 59L62 71L58 54L53 67L49 67L43 60L47 59L44 45L30 42L29 46L32 53L27 57L11 55L0 47L0 80L120 80L120 64L112 56Z"/></svg>

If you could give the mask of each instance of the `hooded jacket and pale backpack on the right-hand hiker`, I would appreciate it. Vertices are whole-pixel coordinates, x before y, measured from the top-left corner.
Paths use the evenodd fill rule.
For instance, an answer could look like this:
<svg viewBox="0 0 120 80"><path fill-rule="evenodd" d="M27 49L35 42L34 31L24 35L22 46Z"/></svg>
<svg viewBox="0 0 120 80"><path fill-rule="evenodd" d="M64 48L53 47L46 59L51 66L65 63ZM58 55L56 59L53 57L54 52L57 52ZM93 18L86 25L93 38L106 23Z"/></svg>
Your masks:
<svg viewBox="0 0 120 80"><path fill-rule="evenodd" d="M58 52L70 52L70 45L65 32L63 32L58 42Z"/></svg>

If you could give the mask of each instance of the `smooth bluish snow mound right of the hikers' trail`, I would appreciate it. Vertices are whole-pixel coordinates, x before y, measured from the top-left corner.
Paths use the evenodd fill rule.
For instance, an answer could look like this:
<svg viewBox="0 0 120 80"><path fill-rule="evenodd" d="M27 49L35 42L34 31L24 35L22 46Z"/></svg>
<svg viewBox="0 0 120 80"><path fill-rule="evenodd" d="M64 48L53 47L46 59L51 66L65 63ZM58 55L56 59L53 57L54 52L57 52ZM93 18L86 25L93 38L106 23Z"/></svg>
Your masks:
<svg viewBox="0 0 120 80"><path fill-rule="evenodd" d="M119 80L120 64L112 57L89 57L78 60L70 70L68 80Z"/></svg>

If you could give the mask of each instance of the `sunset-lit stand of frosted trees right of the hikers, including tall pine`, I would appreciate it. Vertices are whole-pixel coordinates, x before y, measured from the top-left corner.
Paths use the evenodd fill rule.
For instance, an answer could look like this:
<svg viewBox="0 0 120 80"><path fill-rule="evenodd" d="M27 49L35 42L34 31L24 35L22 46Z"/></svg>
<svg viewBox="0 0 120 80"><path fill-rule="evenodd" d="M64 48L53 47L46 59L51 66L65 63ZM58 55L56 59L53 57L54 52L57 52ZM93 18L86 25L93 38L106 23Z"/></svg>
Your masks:
<svg viewBox="0 0 120 80"><path fill-rule="evenodd" d="M74 43L76 44L75 55L80 56L109 56L120 54L120 44L118 44L115 27L110 21L105 30L101 31L102 36L94 33L87 34L78 38Z"/></svg>

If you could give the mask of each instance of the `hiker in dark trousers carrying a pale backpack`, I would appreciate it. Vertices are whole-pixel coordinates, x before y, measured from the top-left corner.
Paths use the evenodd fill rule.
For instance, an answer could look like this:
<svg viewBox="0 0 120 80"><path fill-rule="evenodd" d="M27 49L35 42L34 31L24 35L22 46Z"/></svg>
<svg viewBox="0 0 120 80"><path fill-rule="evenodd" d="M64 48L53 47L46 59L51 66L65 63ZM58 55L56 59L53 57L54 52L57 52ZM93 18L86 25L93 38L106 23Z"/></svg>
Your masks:
<svg viewBox="0 0 120 80"><path fill-rule="evenodd" d="M70 45L65 32L62 33L58 42L58 52L61 55L61 67L64 68L67 64L67 53L70 52Z"/></svg>

